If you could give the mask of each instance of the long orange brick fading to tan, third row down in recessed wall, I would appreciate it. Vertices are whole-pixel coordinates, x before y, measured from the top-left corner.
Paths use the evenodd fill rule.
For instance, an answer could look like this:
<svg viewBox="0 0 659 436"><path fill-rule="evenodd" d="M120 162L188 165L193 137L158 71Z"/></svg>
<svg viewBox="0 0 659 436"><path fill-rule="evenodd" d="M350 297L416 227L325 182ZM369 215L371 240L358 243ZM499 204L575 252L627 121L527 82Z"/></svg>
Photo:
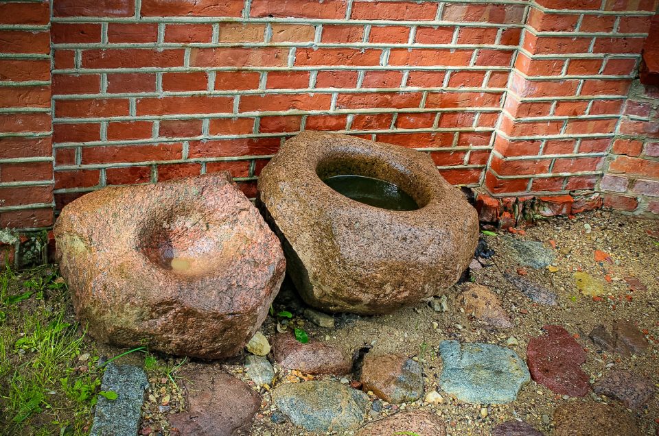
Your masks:
<svg viewBox="0 0 659 436"><path fill-rule="evenodd" d="M286 66L288 49L219 47L190 49L190 66Z"/></svg>

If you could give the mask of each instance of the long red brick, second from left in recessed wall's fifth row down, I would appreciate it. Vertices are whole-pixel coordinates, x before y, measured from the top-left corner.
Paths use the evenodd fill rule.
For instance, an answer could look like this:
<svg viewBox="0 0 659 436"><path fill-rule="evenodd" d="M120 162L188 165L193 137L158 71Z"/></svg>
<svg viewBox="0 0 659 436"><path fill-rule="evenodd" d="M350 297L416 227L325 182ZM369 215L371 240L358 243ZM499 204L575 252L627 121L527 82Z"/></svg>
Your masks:
<svg viewBox="0 0 659 436"><path fill-rule="evenodd" d="M233 97L190 95L137 99L137 115L215 114L233 112Z"/></svg>

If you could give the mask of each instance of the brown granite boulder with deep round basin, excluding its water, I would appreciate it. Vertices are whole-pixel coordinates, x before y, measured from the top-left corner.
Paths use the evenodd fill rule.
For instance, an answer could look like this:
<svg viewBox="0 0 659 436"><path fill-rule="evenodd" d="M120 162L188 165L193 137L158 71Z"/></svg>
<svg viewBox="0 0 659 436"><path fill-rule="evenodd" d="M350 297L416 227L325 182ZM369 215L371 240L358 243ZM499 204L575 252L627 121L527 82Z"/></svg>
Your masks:
<svg viewBox="0 0 659 436"><path fill-rule="evenodd" d="M367 206L321 178L392 182L422 206ZM303 132L263 169L257 201L282 239L302 298L323 311L389 313L450 287L478 243L478 215L428 154L353 136Z"/></svg>

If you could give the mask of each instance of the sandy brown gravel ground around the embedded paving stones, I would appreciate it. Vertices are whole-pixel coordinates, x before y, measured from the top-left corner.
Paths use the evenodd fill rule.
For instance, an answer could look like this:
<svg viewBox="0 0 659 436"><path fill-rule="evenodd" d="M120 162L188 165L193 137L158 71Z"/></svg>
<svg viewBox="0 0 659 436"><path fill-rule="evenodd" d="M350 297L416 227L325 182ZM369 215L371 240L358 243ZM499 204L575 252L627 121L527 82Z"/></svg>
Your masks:
<svg viewBox="0 0 659 436"><path fill-rule="evenodd" d="M290 323L300 326L310 337L326 341L332 346L343 348L353 354L360 348L371 347L373 354L396 352L406 354L419 361L426 376L426 392L437 389L443 402L441 404L424 404L422 400L400 404L398 407L384 404L380 413L371 413L369 419L378 419L395 413L398 410L424 409L437 413L446 422L449 435L489 435L490 430L500 422L522 419L535 428L551 434L555 422L553 411L566 402L606 402L616 408L624 409L620 402L606 397L598 397L590 393L585 398L568 398L559 396L546 387L534 381L525 385L517 400L511 404L462 404L450 398L438 387L442 363L438 356L439 343L446 339L459 341L478 341L506 346L509 338L517 340L518 345L511 348L522 359L526 359L526 348L529 339L542 334L541 328L546 324L564 326L577 341L588 350L588 358L582 366L590 376L591 383L612 370L631 369L638 374L650 378L659 387L658 352L655 337L659 338L659 222L638 219L616 213L596 211L584 213L577 217L557 217L542 221L537 226L525 228L516 237L527 241L542 241L546 247L555 251L556 261L548 269L532 269L525 267L518 272L520 265L506 250L502 235L484 236L495 252L487 259L483 269L474 271L470 280L492 289L503 302L503 307L509 313L515 324L507 330L487 330L481 328L470 316L460 311L456 295L465 284L455 285L446 289L444 295L448 300L448 311L437 312L428 303L402 308L391 315L358 317L356 315L336 315L336 328L321 328L306 321L301 316L303 304L297 299L290 284L284 285L280 295L275 300L275 313L286 310L293 313ZM555 247L553 247L555 245ZM610 257L596 261L595 250L605 252ZM600 255L601 256L601 255ZM505 271L513 274L524 274L537 284L552 289L558 295L556 306L542 306L524 297L505 278ZM582 295L577 289L574 274L585 271L605 285L605 294L601 298L591 298ZM634 280L638 282L634 282ZM632 287L630 287L630 283ZM645 287L645 289L643 289ZM610 326L614 319L627 319L638 323L649 339L650 346L642 356L625 358L619 354L598 352L597 347L588 339L588 332L596 324ZM262 327L262 332L268 337L275 335L277 321L268 317ZM242 358L235 360L235 365L228 363L213 363L248 381L244 367L240 365ZM173 365L171 362L170 365ZM183 364L183 368L185 367ZM299 372L283 370L275 364L277 378L275 385L281 380L302 380L310 376ZM340 377L320 376L319 378ZM348 376L349 378L349 376ZM343 380L344 382L346 380ZM253 385L253 383L251 383ZM290 422L275 424L270 416L275 408L272 406L270 393L264 387L254 387L262 393L262 409L257 414L252 427L253 435L290 436L305 435L300 428ZM170 395L176 398L174 409L183 407L181 393L174 383L165 376L152 376L152 391L161 398ZM371 396L371 400L376 400ZM159 413L159 401L148 402L143 416L146 424L154 430L153 434L168 434L167 413ZM485 409L485 410L483 410ZM487 413L485 413L487 411ZM632 413L627 411L627 413ZM654 398L647 409L634 412L638 426L643 434L655 435L659 422L659 402ZM151 423L151 424L150 424ZM145 432L146 433L146 432ZM146 433L149 434L149 433ZM332 434L351 434L332 433Z"/></svg>

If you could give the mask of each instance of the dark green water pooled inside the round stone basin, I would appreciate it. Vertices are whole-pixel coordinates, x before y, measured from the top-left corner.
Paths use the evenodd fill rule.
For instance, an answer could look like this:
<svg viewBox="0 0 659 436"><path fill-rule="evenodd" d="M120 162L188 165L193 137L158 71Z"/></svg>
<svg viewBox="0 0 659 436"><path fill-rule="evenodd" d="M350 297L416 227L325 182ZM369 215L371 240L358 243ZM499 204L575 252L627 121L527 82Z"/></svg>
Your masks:
<svg viewBox="0 0 659 436"><path fill-rule="evenodd" d="M323 180L334 191L356 202L389 210L416 210L419 208L408 193L393 183L363 175L334 175Z"/></svg>

